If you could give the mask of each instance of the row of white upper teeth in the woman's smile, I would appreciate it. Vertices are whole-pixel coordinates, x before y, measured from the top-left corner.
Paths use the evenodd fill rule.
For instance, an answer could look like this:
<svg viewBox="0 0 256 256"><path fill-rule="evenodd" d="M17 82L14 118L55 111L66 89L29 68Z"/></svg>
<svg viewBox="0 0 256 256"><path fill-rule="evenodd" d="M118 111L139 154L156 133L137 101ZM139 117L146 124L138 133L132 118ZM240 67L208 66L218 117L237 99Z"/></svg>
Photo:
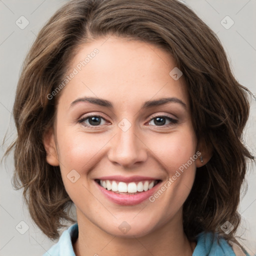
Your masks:
<svg viewBox="0 0 256 256"><path fill-rule="evenodd" d="M102 187L107 190L112 190L116 192L128 192L128 193L136 193L147 191L151 189L157 182L156 180L145 180L139 182L118 182L115 180L99 180L99 183Z"/></svg>

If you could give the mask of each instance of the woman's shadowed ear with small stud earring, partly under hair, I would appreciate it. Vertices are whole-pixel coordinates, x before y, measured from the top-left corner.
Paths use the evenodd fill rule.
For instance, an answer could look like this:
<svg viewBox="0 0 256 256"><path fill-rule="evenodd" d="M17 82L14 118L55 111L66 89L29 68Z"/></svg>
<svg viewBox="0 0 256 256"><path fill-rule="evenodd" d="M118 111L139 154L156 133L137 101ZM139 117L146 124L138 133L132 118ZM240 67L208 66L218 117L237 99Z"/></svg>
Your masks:
<svg viewBox="0 0 256 256"><path fill-rule="evenodd" d="M195 160L196 167L205 165L212 156L212 145L201 140L197 144L196 155L198 156Z"/></svg>

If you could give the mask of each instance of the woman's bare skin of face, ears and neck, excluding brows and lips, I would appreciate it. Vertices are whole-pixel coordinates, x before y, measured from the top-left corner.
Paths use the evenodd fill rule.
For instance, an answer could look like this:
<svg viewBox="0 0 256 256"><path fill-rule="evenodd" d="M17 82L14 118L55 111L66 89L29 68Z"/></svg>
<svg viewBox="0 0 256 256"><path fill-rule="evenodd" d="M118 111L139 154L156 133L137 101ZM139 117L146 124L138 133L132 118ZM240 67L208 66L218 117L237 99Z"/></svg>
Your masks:
<svg viewBox="0 0 256 256"><path fill-rule="evenodd" d="M189 242L183 231L182 205L196 167L210 156L195 137L184 79L174 80L169 75L175 62L159 47L115 36L106 38L79 48L70 70L94 48L99 53L62 89L54 129L44 137L46 160L60 166L65 189L76 206L79 235L73 243L75 254L192 255L196 243ZM113 108L89 102L70 106L85 96L109 100ZM141 109L144 101L162 97L176 97L186 106L168 102ZM77 121L88 113L105 120L99 119L100 124L94 126L89 119ZM163 114L177 123L166 118L165 124L157 125L153 117ZM131 124L125 132L118 127L123 118ZM157 177L164 184L197 150L203 163L198 157L154 202L115 204L94 181L118 174ZM67 178L72 169L80 175L74 183ZM125 234L118 228L123 221L130 226Z"/></svg>

